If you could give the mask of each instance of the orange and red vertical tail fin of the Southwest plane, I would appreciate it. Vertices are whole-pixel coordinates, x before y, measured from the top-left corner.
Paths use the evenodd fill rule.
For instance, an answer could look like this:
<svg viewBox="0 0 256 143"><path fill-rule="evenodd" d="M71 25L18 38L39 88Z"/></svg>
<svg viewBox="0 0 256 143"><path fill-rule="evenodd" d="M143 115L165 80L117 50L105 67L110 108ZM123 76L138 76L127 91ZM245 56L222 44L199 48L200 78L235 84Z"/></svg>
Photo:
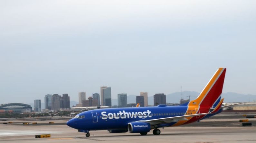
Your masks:
<svg viewBox="0 0 256 143"><path fill-rule="evenodd" d="M225 73L226 68L219 68L197 99L190 101L189 106L213 107L215 103L219 103L217 100L221 97Z"/></svg>

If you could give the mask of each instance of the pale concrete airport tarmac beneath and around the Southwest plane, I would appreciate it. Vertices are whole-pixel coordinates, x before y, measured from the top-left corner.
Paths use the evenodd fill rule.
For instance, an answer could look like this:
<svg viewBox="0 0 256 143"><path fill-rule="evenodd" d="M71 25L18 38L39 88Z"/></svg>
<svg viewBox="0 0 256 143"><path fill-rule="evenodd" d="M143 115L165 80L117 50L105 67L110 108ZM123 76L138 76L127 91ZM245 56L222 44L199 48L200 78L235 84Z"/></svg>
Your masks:
<svg viewBox="0 0 256 143"><path fill-rule="evenodd" d="M223 116L223 115L221 115ZM238 115L240 116L240 115ZM245 119L242 117L240 119ZM160 135L153 135L150 131L146 136L139 133L108 133L108 131L90 131L91 136L85 137L85 133L77 132L65 125L67 118L35 121L38 125L21 125L27 120L14 120L13 124L2 124L0 121L0 143L76 143L76 142L102 142L102 143L255 143L256 142L256 118L249 119L252 126L242 126L239 120L233 116L217 119L205 119L201 122L185 126L168 127L161 130ZM29 122L35 122L29 120ZM47 124L47 122L55 122ZM35 138L36 134L51 134L51 138Z"/></svg>

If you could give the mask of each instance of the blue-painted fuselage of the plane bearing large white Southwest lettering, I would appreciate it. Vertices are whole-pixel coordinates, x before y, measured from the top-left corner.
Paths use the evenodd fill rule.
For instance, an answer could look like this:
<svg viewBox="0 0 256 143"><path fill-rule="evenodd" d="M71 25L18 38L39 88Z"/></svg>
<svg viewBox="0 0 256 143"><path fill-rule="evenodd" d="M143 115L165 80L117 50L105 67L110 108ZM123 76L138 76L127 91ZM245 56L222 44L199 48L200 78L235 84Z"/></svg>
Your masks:
<svg viewBox="0 0 256 143"><path fill-rule="evenodd" d="M96 109L78 114L75 118L69 120L67 122L67 125L72 128L84 131L127 129L128 123L131 122L189 114L187 112L187 109L188 106L164 105L158 107ZM207 115L207 117L210 117L212 115ZM162 125L160 124L159 127L172 126L175 123L176 122L168 124L164 123Z"/></svg>

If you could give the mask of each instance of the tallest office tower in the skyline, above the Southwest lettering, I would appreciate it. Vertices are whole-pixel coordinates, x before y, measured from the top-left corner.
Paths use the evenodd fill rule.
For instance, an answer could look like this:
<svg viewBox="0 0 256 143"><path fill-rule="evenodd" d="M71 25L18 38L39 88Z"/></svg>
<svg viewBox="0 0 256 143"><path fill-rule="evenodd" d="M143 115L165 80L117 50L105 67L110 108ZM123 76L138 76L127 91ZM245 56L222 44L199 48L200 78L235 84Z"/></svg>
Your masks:
<svg viewBox="0 0 256 143"><path fill-rule="evenodd" d="M111 107L111 87L100 87L100 100L101 106L103 105Z"/></svg>

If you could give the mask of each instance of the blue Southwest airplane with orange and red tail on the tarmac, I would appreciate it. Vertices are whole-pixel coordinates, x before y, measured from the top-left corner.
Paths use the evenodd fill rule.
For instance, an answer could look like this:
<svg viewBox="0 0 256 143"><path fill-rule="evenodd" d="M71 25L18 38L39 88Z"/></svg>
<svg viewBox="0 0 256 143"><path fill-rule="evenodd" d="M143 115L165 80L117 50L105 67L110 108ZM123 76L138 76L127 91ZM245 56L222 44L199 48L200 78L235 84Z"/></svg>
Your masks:
<svg viewBox="0 0 256 143"><path fill-rule="evenodd" d="M89 131L96 130L147 135L153 129L154 135L160 135L159 128L193 123L222 112L225 73L226 68L218 68L199 96L183 105L90 110L79 113L67 125L85 132L86 137L90 137Z"/></svg>

